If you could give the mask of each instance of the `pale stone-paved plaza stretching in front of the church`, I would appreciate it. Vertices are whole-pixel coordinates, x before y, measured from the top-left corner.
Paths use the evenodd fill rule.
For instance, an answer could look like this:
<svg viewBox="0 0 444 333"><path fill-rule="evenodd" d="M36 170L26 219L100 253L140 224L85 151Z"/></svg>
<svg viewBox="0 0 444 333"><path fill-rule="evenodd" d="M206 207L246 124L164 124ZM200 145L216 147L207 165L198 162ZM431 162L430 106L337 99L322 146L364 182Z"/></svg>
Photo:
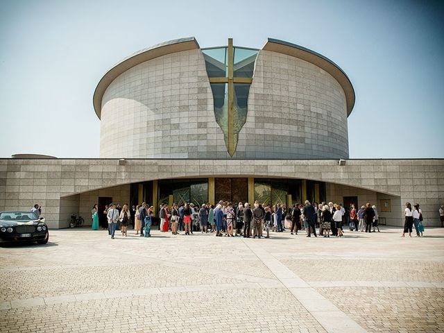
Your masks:
<svg viewBox="0 0 444 333"><path fill-rule="evenodd" d="M0 332L444 332L444 229L336 239L116 239L0 248Z"/></svg>

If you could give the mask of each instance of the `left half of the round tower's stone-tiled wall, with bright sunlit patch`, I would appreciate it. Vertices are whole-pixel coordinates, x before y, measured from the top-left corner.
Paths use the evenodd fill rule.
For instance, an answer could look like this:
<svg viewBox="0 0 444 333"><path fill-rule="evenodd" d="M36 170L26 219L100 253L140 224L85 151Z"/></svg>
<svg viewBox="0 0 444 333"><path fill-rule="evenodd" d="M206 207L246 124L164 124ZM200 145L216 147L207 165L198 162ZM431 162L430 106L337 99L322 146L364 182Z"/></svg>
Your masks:
<svg viewBox="0 0 444 333"><path fill-rule="evenodd" d="M227 158L213 109L200 49L143 62L118 76L103 95L100 155Z"/></svg>

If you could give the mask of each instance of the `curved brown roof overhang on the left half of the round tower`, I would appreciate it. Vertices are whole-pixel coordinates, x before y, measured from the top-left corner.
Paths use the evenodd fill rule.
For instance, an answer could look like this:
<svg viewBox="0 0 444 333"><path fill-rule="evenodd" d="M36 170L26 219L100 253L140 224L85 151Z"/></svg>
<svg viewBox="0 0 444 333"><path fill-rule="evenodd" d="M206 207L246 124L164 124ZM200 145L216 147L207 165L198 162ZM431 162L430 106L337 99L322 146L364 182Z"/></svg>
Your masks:
<svg viewBox="0 0 444 333"><path fill-rule="evenodd" d="M194 37L180 38L178 40L170 40L157 44L148 49L143 49L133 53L131 56L121 60L121 62L114 65L99 81L96 89L94 90L93 104L97 117L101 117L102 99L105 90L124 71L127 71L131 67L141 64L142 62L165 56L170 53L176 53L180 51L188 51L192 49L199 49L199 44Z"/></svg>

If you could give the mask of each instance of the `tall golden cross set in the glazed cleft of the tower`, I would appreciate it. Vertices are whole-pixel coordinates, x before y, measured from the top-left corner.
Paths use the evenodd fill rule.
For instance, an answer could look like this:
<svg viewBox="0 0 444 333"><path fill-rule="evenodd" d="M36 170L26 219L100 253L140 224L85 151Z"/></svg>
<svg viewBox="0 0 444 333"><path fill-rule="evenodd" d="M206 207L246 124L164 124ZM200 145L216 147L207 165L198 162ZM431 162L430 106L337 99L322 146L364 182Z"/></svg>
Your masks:
<svg viewBox="0 0 444 333"><path fill-rule="evenodd" d="M253 82L253 78L234 78L234 48L233 39L228 38L228 77L209 78L210 83L228 83L228 153L234 155L236 146L234 146L234 83Z"/></svg>

